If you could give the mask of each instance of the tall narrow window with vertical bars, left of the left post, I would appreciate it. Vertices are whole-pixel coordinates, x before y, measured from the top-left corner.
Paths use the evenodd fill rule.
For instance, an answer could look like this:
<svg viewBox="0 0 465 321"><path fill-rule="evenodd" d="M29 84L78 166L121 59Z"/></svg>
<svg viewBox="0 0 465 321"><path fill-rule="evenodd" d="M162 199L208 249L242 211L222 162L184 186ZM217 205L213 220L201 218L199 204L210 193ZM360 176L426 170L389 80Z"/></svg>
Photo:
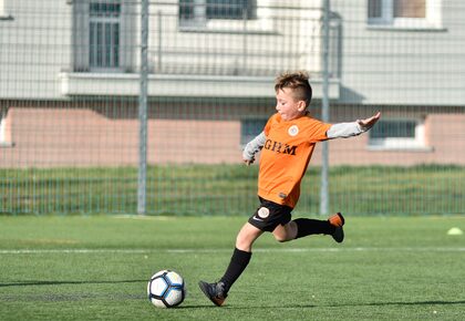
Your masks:
<svg viewBox="0 0 465 321"><path fill-rule="evenodd" d="M99 1L89 6L89 65L118 68L121 3Z"/></svg>

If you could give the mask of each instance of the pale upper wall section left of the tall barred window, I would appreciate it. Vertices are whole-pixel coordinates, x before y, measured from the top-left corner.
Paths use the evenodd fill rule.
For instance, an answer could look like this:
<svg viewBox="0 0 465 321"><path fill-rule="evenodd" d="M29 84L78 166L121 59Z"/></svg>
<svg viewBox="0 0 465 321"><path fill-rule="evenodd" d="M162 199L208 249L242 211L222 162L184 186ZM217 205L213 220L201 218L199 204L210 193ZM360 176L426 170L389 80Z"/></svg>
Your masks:
<svg viewBox="0 0 465 321"><path fill-rule="evenodd" d="M70 69L71 6L65 0L3 0L0 97L56 99L58 75Z"/></svg>

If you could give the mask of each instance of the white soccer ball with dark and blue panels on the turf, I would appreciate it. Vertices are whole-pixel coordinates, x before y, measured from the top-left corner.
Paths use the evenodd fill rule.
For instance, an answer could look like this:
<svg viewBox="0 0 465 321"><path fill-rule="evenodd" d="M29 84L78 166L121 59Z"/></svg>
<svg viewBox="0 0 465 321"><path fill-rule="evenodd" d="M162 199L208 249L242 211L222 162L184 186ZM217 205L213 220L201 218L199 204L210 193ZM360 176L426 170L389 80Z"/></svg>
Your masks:
<svg viewBox="0 0 465 321"><path fill-rule="evenodd" d="M147 296L157 308L177 307L186 297L184 279L175 271L158 271L148 281Z"/></svg>

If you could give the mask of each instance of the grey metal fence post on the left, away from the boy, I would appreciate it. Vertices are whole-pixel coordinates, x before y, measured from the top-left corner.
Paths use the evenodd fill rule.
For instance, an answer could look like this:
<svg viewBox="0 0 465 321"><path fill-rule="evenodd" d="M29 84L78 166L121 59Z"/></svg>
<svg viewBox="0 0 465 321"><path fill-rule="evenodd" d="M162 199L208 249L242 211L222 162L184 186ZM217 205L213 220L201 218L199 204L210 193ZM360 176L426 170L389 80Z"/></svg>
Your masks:
<svg viewBox="0 0 465 321"><path fill-rule="evenodd" d="M148 43L148 0L141 3L141 91L138 95L138 179L137 214L146 213L147 183L147 43Z"/></svg>

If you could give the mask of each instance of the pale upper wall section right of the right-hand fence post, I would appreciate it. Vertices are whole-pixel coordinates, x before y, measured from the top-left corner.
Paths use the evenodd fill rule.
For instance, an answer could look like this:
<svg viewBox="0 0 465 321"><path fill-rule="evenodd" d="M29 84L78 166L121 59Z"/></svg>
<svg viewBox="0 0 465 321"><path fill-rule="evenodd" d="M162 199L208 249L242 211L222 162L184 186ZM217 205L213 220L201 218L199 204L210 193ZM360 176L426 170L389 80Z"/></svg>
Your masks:
<svg viewBox="0 0 465 321"><path fill-rule="evenodd" d="M465 2L433 0L432 27L410 29L370 27L366 2L331 1L344 29L341 101L464 105Z"/></svg>

